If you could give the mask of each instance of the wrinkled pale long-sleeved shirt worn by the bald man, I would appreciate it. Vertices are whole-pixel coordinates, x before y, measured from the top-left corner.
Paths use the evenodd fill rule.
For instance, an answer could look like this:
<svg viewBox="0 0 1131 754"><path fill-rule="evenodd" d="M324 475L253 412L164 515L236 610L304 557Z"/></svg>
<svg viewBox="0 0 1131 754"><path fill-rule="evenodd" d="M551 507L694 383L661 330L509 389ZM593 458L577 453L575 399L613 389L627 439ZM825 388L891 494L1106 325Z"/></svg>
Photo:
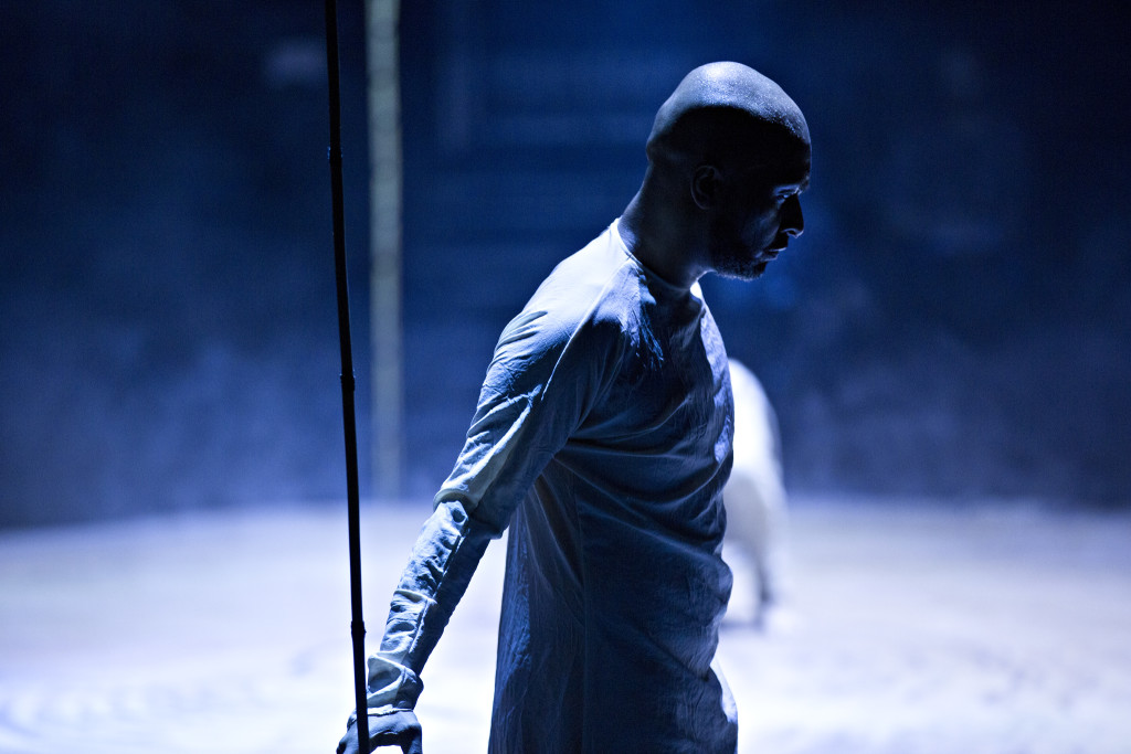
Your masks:
<svg viewBox="0 0 1131 754"><path fill-rule="evenodd" d="M492 752L731 754L713 668L733 406L698 285L613 224L507 326L370 658L370 712L411 709L482 555L510 527Z"/></svg>

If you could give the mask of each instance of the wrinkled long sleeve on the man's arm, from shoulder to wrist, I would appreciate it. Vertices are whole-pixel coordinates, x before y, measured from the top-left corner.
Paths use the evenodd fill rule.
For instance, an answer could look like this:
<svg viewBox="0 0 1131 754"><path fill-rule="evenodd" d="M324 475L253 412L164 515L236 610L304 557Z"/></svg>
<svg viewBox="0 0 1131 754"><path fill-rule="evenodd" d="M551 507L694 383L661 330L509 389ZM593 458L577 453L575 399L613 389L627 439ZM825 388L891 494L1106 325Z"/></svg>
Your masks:
<svg viewBox="0 0 1131 754"><path fill-rule="evenodd" d="M612 338L607 337L613 335ZM620 356L615 332L524 312L503 331L456 467L435 496L369 658L370 714L413 709L421 670L491 538L568 441Z"/></svg>

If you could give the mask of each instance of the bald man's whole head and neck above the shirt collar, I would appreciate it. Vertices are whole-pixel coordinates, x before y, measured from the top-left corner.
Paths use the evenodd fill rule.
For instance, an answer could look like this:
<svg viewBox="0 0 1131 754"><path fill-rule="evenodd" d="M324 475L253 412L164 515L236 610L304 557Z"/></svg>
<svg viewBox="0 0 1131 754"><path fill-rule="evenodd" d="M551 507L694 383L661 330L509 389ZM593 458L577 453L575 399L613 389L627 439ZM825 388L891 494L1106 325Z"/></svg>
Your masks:
<svg viewBox="0 0 1131 754"><path fill-rule="evenodd" d="M648 170L618 226L670 283L753 279L805 227L809 125L777 84L741 63L688 73L656 113Z"/></svg>

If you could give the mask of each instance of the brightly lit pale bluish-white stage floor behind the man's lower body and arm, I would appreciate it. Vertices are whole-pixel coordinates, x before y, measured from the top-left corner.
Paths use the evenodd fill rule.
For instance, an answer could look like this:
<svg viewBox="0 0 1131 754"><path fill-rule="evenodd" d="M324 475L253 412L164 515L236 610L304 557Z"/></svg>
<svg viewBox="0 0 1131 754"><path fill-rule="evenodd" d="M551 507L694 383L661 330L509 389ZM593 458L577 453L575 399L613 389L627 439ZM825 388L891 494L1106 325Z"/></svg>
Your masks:
<svg viewBox="0 0 1131 754"><path fill-rule="evenodd" d="M426 510L362 511L372 641ZM791 534L788 608L722 639L743 753L1131 752L1128 514L803 500ZM425 670L429 754L485 748L502 549ZM0 532L0 753L329 753L348 625L344 506Z"/></svg>

